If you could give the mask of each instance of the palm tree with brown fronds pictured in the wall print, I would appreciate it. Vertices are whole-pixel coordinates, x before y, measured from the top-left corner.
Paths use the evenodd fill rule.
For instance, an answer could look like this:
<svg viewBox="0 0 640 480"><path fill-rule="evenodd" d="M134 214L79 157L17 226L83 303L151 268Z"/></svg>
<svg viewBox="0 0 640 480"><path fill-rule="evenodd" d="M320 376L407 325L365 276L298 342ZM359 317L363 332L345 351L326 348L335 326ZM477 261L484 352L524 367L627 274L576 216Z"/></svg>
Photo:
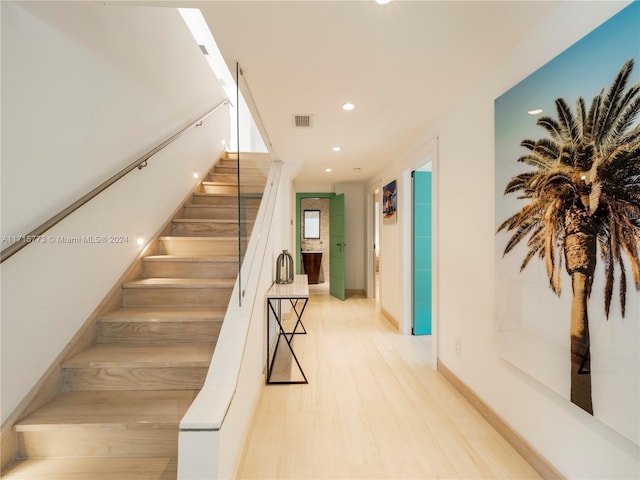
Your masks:
<svg viewBox="0 0 640 480"><path fill-rule="evenodd" d="M624 317L628 268L640 290L640 82L628 85L633 66L625 62L588 110L582 98L575 112L558 98L557 118L538 119L549 137L521 142L528 153L518 162L531 170L504 190L527 203L498 228L511 235L503 256L527 239L520 271L538 257L556 295L562 269L569 274L570 398L592 415L588 300L598 257L607 318L616 287Z"/></svg>

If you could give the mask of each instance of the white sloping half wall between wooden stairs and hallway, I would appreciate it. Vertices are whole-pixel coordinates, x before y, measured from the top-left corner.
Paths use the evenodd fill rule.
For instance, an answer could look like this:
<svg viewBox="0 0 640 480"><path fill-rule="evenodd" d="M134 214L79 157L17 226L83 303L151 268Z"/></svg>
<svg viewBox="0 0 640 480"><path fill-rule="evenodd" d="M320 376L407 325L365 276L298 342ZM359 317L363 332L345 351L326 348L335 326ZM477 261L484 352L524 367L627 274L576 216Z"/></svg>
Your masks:
<svg viewBox="0 0 640 480"><path fill-rule="evenodd" d="M242 263L242 286L236 280L205 383L180 422L180 480L232 478L241 457L266 362L265 355L246 355L255 357L266 338L264 295L273 283L276 252L288 242L272 230L278 205L289 201L282 172L282 162L274 161ZM242 305L233 303L240 297ZM242 402L234 402L236 394Z"/></svg>

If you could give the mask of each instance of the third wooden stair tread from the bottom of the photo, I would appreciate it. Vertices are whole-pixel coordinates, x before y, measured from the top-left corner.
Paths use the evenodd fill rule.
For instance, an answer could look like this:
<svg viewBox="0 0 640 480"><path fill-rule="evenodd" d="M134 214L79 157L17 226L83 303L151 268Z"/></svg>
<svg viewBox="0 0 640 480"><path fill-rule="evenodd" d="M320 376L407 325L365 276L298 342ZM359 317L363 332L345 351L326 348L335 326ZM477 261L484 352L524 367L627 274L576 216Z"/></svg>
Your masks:
<svg viewBox="0 0 640 480"><path fill-rule="evenodd" d="M209 366L211 343L119 344L96 343L63 363L64 368L202 367Z"/></svg>

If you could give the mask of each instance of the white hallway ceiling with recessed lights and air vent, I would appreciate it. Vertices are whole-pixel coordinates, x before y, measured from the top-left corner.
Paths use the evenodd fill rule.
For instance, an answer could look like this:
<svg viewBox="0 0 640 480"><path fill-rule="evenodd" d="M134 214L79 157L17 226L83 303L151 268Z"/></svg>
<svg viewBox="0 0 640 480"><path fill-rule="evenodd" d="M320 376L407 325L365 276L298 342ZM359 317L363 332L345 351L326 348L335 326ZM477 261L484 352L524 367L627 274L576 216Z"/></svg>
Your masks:
<svg viewBox="0 0 640 480"><path fill-rule="evenodd" d="M364 182L393 161L558 3L212 1L194 6L227 63L240 64L274 157L302 164L298 183L335 184ZM342 110L347 101L355 110ZM312 114L312 127L295 128L294 114ZM334 146L341 151L333 152Z"/></svg>

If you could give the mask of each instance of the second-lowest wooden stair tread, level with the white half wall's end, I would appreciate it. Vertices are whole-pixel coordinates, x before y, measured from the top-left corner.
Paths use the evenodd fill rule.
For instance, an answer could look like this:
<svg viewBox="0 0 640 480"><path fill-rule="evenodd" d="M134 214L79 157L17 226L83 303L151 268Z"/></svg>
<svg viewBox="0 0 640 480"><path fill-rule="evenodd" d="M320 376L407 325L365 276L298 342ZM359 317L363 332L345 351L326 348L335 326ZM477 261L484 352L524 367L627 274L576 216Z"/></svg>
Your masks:
<svg viewBox="0 0 640 480"><path fill-rule="evenodd" d="M180 422L197 390L120 390L66 392L19 422L17 432L36 429L109 426L149 428Z"/></svg>

